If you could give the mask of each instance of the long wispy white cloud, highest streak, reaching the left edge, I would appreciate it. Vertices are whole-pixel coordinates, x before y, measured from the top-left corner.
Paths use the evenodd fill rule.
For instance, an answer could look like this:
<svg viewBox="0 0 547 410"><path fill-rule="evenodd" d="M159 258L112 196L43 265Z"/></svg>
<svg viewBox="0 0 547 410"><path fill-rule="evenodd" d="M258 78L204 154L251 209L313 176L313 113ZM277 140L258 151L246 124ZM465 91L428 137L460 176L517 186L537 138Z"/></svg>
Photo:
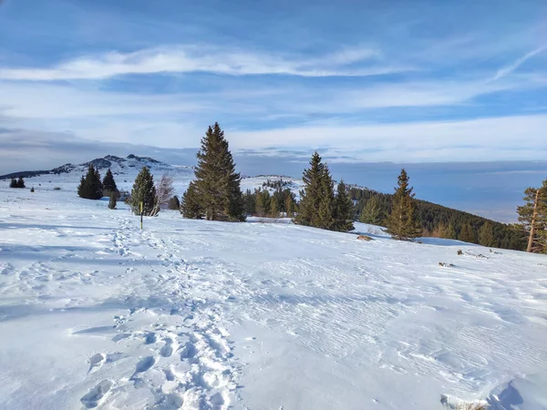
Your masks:
<svg viewBox="0 0 547 410"><path fill-rule="evenodd" d="M299 77L367 77L408 70L408 67L368 64L378 56L366 47L346 48L323 58L303 59L225 50L212 46L170 46L133 53L109 52L82 56L48 68L4 67L0 78L51 81L104 79L128 74L207 72L230 76L289 75ZM346 67L368 62L365 66Z"/></svg>

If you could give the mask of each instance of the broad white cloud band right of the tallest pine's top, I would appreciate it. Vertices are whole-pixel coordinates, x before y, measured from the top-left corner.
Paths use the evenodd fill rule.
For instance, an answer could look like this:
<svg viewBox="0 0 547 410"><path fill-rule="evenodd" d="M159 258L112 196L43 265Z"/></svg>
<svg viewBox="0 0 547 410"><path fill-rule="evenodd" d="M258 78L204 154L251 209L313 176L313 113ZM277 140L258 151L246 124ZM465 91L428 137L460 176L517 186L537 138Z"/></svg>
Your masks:
<svg viewBox="0 0 547 410"><path fill-rule="evenodd" d="M229 132L237 148L323 147L356 161L547 158L547 115ZM347 159L343 159L347 161Z"/></svg>

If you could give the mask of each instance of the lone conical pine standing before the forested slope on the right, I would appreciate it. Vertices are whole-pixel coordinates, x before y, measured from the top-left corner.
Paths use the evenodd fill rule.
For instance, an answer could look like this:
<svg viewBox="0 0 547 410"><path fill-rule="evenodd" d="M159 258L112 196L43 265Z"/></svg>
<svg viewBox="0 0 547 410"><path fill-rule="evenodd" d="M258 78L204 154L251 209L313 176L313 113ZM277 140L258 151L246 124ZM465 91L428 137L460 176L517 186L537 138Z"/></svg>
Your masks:
<svg viewBox="0 0 547 410"><path fill-rule="evenodd" d="M408 187L405 169L397 178L397 188L393 195L391 213L387 218L387 233L397 240L409 240L421 235L421 226L416 218L413 188Z"/></svg>

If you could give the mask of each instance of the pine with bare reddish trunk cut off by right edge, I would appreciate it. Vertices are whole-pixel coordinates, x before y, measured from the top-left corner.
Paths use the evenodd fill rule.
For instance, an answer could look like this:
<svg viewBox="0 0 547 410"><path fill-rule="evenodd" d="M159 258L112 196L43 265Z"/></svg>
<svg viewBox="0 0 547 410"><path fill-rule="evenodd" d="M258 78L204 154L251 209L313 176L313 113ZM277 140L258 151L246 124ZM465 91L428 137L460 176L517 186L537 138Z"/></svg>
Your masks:
<svg viewBox="0 0 547 410"><path fill-rule="evenodd" d="M524 191L526 203L517 207L519 221L528 236L527 252L545 252L547 247L547 179L539 189Z"/></svg>

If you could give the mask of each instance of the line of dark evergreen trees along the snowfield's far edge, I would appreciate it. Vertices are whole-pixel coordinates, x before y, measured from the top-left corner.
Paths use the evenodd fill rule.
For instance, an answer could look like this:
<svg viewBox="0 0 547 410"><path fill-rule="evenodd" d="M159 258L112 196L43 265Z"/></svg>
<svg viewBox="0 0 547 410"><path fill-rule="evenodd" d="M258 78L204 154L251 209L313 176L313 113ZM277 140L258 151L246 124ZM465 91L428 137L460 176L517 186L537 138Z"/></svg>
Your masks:
<svg viewBox="0 0 547 410"><path fill-rule="evenodd" d="M150 169L140 170L126 201L130 209L155 216L162 207L179 209L184 218L244 221L247 216L290 217L295 224L330 231L353 231L354 220L385 226L397 240L421 236L457 239L483 246L547 252L547 179L539 189L525 191L518 208L520 224L504 224L468 212L453 210L415 198L408 173L402 169L393 194L335 184L327 164L317 152L304 169L304 187L296 200L287 181L268 180L255 190L241 190L242 177L235 171L232 152L218 123L210 126L197 153L195 178L181 200L172 196L172 179L163 175L155 184ZM119 191L112 172L101 181L89 164L78 195L98 199L108 194L115 208Z"/></svg>

